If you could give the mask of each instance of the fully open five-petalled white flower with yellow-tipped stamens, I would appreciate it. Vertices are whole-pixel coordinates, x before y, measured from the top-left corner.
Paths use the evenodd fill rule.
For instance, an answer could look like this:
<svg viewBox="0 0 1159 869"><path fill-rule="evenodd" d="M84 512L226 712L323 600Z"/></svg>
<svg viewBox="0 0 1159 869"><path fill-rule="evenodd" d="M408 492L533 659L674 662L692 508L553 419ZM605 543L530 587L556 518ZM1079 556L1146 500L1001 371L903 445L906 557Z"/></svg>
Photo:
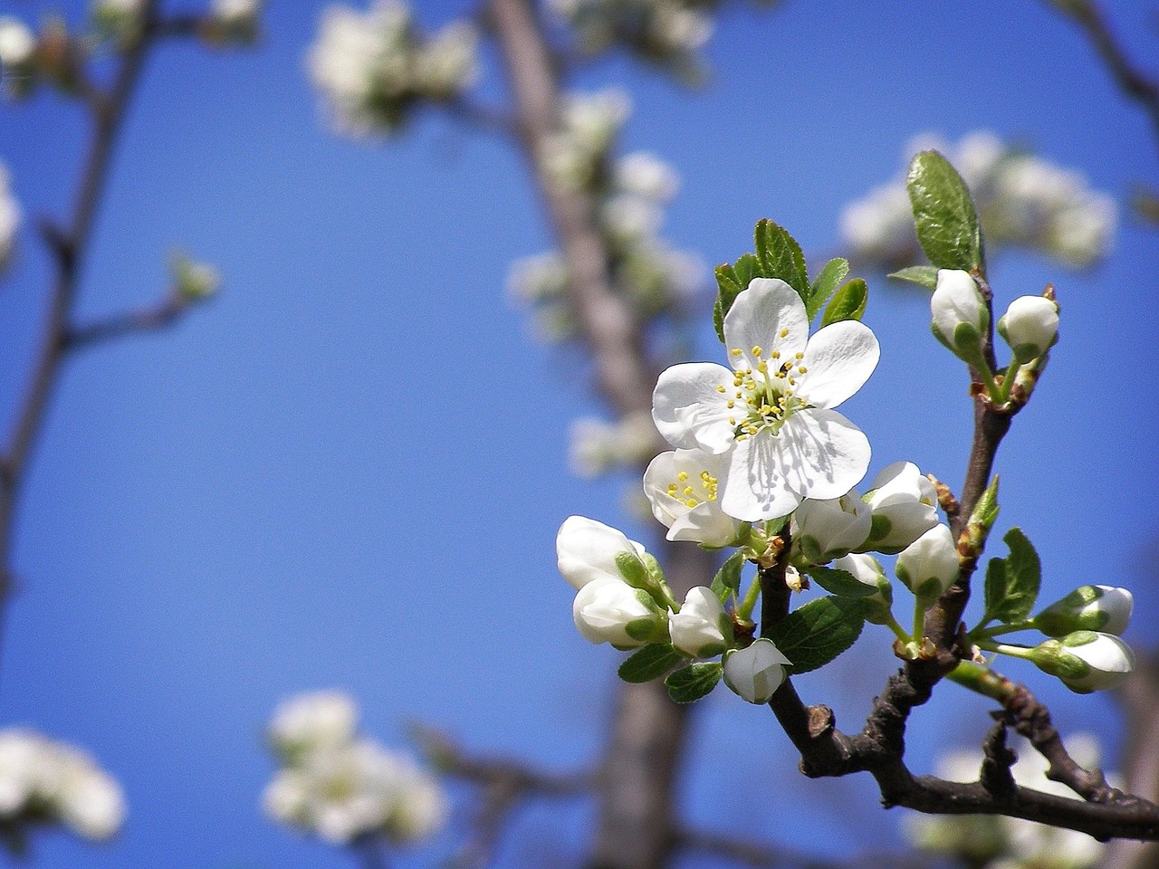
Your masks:
<svg viewBox="0 0 1159 869"><path fill-rule="evenodd" d="M876 367L873 331L847 320L809 338L796 292L755 278L724 317L724 345L731 368L673 365L653 395L656 428L672 446L724 455L721 509L758 521L852 489L869 466L869 440L832 408Z"/></svg>

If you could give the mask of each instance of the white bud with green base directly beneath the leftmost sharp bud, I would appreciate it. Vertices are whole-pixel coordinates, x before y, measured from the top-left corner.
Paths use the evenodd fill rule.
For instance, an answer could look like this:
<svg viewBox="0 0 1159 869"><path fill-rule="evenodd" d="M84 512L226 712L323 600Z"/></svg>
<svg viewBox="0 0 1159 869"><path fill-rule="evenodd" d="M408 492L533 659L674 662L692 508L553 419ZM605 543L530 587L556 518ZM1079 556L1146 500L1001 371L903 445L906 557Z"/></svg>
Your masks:
<svg viewBox="0 0 1159 869"><path fill-rule="evenodd" d="M617 577L596 579L580 589L571 618L589 643L634 649L668 638L664 613L651 596Z"/></svg>

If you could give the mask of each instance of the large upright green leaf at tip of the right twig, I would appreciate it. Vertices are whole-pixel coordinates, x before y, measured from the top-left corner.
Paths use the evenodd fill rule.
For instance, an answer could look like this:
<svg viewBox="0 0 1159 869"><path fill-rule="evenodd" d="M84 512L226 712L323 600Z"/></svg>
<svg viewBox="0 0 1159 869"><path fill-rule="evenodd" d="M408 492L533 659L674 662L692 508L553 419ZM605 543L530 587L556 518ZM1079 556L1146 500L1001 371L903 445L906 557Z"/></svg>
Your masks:
<svg viewBox="0 0 1159 869"><path fill-rule="evenodd" d="M962 176L936 151L921 151L906 177L918 241L939 269L985 273L978 213Z"/></svg>

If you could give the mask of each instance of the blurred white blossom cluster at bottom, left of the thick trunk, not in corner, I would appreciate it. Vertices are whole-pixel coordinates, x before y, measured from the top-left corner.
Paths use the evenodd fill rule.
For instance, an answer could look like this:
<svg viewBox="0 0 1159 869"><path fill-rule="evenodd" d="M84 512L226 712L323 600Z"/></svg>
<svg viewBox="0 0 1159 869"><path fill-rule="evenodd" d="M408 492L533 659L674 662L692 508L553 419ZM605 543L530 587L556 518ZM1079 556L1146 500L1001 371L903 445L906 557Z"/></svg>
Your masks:
<svg viewBox="0 0 1159 869"><path fill-rule="evenodd" d="M358 708L340 691L284 700L269 724L280 768L263 803L275 820L334 845L364 837L418 841L446 818L438 781L411 759L358 735Z"/></svg>

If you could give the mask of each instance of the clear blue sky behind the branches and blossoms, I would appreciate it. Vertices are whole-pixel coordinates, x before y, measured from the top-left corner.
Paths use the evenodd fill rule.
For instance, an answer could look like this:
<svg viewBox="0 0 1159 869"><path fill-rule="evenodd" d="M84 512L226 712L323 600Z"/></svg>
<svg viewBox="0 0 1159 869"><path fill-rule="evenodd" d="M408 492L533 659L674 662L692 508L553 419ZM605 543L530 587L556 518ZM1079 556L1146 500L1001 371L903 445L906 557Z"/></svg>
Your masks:
<svg viewBox="0 0 1159 869"><path fill-rule="evenodd" d="M80 3L63 6L75 21ZM1150 3L1113 6L1132 53L1153 58ZM301 689L349 689L389 744L418 718L557 768L590 760L603 732L619 656L573 629L554 534L569 513L627 524L619 501L633 482L568 475L568 423L598 407L575 357L535 345L504 298L510 261L549 244L526 173L505 143L435 115L385 146L335 138L302 72L321 8L271 2L254 51L162 48L121 141L81 313L156 298L175 244L226 284L172 333L73 359L28 476L0 725L86 746L130 801L111 847L38 841L45 869L348 866L258 809L272 768L261 729ZM433 27L466 8L432 0L420 14ZM680 170L668 235L710 263L748 250L761 217L830 253L843 203L892 176L923 130L1029 141L1121 200L1159 178L1143 114L1042 2L734 9L709 56L700 93L622 60L580 83L632 92L626 145ZM483 93L497 98L495 79ZM48 94L0 108L0 159L27 214L63 212L80 122ZM1064 309L1045 382L999 460L1000 524L1038 546L1044 596L1146 572L1157 240L1125 217L1092 272L1022 256L993 268L999 300L1054 280ZM28 225L22 242L0 285L3 431L45 298ZM930 336L920 294L870 287L882 363L846 406L874 446L870 473L911 459L956 485L969 419L958 365ZM698 358L717 346L705 328ZM1139 586L1128 638L1154 636L1154 591ZM870 628L833 672L800 680L806 699L854 726L894 666L888 644ZM1114 742L1109 701L1011 672L1057 701L1064 732L1092 722ZM942 694L914 716L919 767L989 723L954 686ZM935 733L952 709L972 714ZM684 808L699 824L833 854L897 842L899 812L883 813L868 781L797 775L765 710L717 692L698 728L706 747L690 759ZM851 806L863 828L851 830ZM517 832L577 854L586 816L569 817L560 832L532 813Z"/></svg>

